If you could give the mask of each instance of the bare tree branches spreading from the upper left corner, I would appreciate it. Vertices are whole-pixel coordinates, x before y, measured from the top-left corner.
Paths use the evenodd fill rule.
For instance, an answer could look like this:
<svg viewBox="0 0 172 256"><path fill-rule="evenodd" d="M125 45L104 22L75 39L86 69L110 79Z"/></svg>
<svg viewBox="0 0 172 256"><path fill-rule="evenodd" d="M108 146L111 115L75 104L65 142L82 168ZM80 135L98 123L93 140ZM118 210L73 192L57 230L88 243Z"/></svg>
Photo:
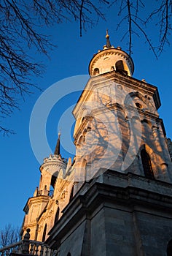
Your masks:
<svg viewBox="0 0 172 256"><path fill-rule="evenodd" d="M108 4L100 0L99 4ZM90 0L1 0L0 3L0 118L12 115L19 109L20 97L24 99L33 87L31 77L40 75L44 67L34 61L29 49L48 56L54 47L42 27L79 20L82 25L93 25L104 18L98 4ZM0 119L1 121L1 119ZM1 121L2 122L2 121ZM1 125L0 132L12 132Z"/></svg>

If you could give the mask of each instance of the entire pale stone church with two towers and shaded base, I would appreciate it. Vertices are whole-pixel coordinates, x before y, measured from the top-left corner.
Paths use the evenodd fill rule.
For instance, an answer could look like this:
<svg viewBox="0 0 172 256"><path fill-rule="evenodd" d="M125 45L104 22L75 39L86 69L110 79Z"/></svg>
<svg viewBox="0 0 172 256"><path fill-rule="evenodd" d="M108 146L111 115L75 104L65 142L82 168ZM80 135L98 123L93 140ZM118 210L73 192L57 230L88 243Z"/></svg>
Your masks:
<svg viewBox="0 0 172 256"><path fill-rule="evenodd" d="M40 167L22 229L57 256L172 255L172 143L157 87L133 72L107 33L73 110L76 155L61 156L59 134Z"/></svg>

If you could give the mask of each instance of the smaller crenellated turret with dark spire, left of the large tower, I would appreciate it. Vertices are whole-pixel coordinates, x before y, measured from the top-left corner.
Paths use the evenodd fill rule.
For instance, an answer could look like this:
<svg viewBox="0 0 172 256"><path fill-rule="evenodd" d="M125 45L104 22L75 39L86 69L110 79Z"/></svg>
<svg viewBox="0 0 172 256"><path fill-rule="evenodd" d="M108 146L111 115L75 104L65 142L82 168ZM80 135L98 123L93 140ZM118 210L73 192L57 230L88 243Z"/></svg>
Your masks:
<svg viewBox="0 0 172 256"><path fill-rule="evenodd" d="M28 227L31 228L31 239L37 240L37 238L39 238L43 240L42 230L40 229L38 222L39 217L46 211L47 204L53 195L53 189L58 173L65 173L66 166L66 159L63 159L60 155L59 133L54 154L50 154L50 157L45 158L40 167L41 178L39 187L36 187L34 196L28 199L26 206L23 209L26 213L23 222L23 232L26 232ZM40 238L40 236L42 236L42 238Z"/></svg>

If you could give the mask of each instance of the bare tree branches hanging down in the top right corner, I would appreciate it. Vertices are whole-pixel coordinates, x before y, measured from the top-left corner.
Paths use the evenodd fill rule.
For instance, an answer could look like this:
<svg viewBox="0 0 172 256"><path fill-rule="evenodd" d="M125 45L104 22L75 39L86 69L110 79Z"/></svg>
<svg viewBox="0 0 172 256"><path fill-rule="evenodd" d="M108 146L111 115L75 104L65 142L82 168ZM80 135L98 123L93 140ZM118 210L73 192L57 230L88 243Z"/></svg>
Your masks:
<svg viewBox="0 0 172 256"><path fill-rule="evenodd" d="M142 34L145 37L149 48L155 54L156 58L158 54L162 53L165 45L170 44L168 38L171 32L172 0L155 1L155 3L157 2L160 2L159 7L155 7L155 10L151 10L147 17L145 16L145 13L147 13L146 7L149 7L149 4L147 4L146 1L116 0L112 1L110 4L110 6L112 6L112 4L120 4L118 15L120 15L121 19L120 23L117 24L117 29L120 29L122 23L128 24L128 31L123 34L122 39L124 39L127 34L129 35L129 54L132 53L133 34L136 34L138 37ZM142 14L141 10L143 10ZM157 31L159 31L159 45L155 45L155 43L152 44L149 31L146 31L146 26L148 26L149 22L152 23L152 21L156 22L157 27L160 26L160 29L157 29Z"/></svg>

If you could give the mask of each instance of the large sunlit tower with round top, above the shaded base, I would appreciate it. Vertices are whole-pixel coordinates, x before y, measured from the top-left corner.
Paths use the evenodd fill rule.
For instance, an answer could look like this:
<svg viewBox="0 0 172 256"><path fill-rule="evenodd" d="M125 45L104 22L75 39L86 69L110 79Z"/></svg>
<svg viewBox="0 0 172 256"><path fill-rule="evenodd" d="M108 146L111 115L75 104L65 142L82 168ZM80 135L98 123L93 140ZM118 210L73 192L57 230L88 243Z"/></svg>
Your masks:
<svg viewBox="0 0 172 256"><path fill-rule="evenodd" d="M131 57L114 48L106 33L73 111L78 181L98 176L102 168L172 181L157 87L132 78L133 71Z"/></svg>

